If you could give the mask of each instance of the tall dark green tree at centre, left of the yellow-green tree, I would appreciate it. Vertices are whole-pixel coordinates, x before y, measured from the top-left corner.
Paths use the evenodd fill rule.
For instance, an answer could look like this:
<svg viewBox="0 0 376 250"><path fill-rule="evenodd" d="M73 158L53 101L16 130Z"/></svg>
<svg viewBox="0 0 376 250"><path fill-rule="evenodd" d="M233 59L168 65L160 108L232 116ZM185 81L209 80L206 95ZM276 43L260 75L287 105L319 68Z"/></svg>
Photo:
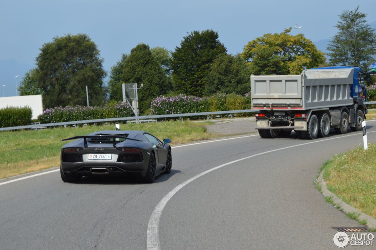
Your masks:
<svg viewBox="0 0 376 250"><path fill-rule="evenodd" d="M205 88L203 78L220 54L226 54L226 48L219 42L217 32L193 31L185 36L180 47L176 47L172 53L174 91L202 96Z"/></svg>

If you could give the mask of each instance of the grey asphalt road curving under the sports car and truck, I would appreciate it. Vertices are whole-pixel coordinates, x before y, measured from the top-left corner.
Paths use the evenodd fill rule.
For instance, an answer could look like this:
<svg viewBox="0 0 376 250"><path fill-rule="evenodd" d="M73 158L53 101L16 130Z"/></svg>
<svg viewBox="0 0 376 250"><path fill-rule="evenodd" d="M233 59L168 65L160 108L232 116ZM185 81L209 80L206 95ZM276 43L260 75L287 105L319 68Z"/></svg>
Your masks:
<svg viewBox="0 0 376 250"><path fill-rule="evenodd" d="M367 123L368 142L376 141L375 126ZM361 132L332 131L313 141L293 133L175 147L171 174L153 184L107 176L63 183L58 171L0 180L0 249L146 249L150 217L168 192L253 155L168 200L158 221L161 249L336 249L332 227L359 224L326 203L312 179L327 159L359 144Z"/></svg>

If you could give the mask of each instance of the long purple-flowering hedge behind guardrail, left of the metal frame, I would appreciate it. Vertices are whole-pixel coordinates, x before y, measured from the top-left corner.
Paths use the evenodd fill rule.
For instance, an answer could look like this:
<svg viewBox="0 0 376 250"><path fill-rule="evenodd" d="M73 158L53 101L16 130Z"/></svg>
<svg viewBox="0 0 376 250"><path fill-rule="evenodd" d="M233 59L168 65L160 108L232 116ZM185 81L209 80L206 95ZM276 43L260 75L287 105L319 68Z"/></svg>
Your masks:
<svg viewBox="0 0 376 250"><path fill-rule="evenodd" d="M46 109L38 116L41 123L60 123L134 116L128 103L110 103L100 107L66 106Z"/></svg>

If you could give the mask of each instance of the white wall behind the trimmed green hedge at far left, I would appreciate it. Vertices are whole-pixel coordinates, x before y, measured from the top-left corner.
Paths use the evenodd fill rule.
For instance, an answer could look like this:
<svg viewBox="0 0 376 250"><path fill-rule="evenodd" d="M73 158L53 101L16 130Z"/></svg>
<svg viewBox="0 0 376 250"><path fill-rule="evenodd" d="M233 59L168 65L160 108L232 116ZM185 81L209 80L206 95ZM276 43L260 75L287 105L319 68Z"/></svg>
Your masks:
<svg viewBox="0 0 376 250"><path fill-rule="evenodd" d="M42 95L21 95L0 97L0 109L9 107L29 106L33 111L33 118L43 113Z"/></svg>

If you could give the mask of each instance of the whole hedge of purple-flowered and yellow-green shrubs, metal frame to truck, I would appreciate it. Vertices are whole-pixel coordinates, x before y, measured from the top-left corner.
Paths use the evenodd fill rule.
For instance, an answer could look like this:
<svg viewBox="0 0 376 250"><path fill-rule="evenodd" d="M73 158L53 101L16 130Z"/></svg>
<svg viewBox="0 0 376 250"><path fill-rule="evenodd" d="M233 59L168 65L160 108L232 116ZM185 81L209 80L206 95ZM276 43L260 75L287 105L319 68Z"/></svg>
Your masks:
<svg viewBox="0 0 376 250"><path fill-rule="evenodd" d="M241 110L251 108L250 94L215 94L210 97L159 96L150 105L152 115Z"/></svg>

